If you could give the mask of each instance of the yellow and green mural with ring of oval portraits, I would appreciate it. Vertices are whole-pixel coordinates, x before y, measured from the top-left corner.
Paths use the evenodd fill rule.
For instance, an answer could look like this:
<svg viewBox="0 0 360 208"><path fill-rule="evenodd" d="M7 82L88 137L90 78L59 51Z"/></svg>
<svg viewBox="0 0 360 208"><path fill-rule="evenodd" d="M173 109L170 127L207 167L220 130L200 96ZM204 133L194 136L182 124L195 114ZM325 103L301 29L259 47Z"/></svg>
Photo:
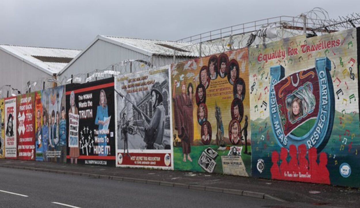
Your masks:
<svg viewBox="0 0 360 208"><path fill-rule="evenodd" d="M174 169L251 175L248 50L171 67Z"/></svg>

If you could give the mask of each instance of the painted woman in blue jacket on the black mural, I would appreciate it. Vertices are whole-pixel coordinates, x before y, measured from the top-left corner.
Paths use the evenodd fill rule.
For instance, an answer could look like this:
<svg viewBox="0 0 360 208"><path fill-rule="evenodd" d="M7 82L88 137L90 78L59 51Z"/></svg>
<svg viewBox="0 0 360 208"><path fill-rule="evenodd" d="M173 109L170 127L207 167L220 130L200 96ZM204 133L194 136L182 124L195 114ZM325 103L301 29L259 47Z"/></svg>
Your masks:
<svg viewBox="0 0 360 208"><path fill-rule="evenodd" d="M99 147L101 150L99 151L99 156L107 156L108 150L106 149L107 145L107 131L108 131L108 124L110 119L108 118L108 101L106 99L106 94L104 90L100 91L100 99L99 99L99 106L96 110L96 118L95 118L95 125L99 125L99 133L98 133L98 140L99 140ZM105 120L106 119L106 120ZM104 128L104 126L106 128Z"/></svg>

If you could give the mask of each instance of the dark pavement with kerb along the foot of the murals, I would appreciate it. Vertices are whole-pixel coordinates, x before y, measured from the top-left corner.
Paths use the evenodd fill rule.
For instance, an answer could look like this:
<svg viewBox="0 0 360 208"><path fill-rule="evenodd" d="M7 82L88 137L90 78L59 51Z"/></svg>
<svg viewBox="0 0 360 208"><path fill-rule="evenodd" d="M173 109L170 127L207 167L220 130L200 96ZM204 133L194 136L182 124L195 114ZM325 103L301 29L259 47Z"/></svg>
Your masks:
<svg viewBox="0 0 360 208"><path fill-rule="evenodd" d="M330 185L275 181L251 177L197 172L163 171L138 168L115 168L52 162L1 159L0 167L82 175L164 186L231 193L294 204L359 207L360 190ZM310 192L309 192L310 191ZM312 191L320 193L312 194Z"/></svg>

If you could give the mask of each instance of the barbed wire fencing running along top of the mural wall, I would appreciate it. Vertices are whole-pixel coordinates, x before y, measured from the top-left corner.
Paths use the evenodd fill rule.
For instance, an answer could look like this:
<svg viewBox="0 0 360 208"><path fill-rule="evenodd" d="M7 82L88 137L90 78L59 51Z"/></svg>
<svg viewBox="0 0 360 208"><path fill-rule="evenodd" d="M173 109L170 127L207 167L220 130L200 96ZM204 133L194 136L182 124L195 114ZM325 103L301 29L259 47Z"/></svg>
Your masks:
<svg viewBox="0 0 360 208"><path fill-rule="evenodd" d="M356 25L360 25L359 13L331 19L326 10L316 7L296 17L280 16L261 19L177 40L177 42L183 42L185 46L166 49L164 54L172 55L166 55L164 56L165 58L152 59L149 56L141 60L123 60L110 64L104 69L94 69L86 73L72 74L71 76L40 77L37 80L30 81L30 83L28 82L28 87L24 87L24 89L12 89L9 86L1 86L0 97L5 98L8 94L7 91L11 95L17 90L21 92L39 91L68 83L85 83L101 80L122 74L156 69L170 63L179 63L193 58L224 53L229 50L253 47L287 37L304 35L306 33L313 36L323 35L353 28Z"/></svg>

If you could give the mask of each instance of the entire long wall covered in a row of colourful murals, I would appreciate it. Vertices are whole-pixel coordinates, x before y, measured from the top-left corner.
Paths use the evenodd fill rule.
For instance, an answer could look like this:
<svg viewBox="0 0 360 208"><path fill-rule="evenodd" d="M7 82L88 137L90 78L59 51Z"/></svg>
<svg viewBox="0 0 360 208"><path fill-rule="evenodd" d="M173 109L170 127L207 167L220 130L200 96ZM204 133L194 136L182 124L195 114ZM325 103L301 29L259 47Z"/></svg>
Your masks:
<svg viewBox="0 0 360 208"><path fill-rule="evenodd" d="M360 187L353 28L0 100L0 158Z"/></svg>

